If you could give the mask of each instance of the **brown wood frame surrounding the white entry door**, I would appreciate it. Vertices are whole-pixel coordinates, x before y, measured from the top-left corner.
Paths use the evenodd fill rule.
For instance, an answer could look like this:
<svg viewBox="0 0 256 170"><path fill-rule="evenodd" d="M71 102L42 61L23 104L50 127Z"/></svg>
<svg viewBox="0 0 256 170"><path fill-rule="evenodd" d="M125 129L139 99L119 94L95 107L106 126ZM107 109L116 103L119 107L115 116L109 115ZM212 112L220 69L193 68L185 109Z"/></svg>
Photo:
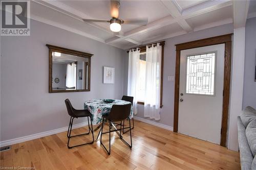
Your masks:
<svg viewBox="0 0 256 170"><path fill-rule="evenodd" d="M231 72L231 40L232 34L210 37L196 41L176 44L176 71L175 71L175 99L174 99L174 132L178 132L179 118L179 86L180 86L180 51L190 48L203 47L208 45L225 44L224 61L224 87L223 87L223 105L222 105L222 123L221 123L221 144L226 147L227 139L227 119L229 108L230 93L230 72Z"/></svg>

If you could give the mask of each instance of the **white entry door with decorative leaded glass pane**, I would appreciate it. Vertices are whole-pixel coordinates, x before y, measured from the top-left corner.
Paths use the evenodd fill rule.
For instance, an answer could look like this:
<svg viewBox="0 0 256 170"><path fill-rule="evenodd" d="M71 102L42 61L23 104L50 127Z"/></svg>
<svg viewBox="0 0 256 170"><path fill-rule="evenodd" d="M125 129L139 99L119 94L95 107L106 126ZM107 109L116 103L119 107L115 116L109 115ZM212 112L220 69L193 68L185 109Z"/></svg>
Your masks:
<svg viewBox="0 0 256 170"><path fill-rule="evenodd" d="M220 144L225 44L180 54L178 132Z"/></svg>

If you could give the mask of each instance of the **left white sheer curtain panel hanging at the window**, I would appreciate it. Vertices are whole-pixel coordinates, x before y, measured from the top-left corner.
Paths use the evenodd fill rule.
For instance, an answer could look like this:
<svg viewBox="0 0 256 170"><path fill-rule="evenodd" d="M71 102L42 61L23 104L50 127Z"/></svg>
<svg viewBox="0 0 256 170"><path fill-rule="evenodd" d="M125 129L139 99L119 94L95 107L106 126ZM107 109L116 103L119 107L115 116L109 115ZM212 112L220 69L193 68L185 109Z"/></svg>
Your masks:
<svg viewBox="0 0 256 170"><path fill-rule="evenodd" d="M139 78L139 59L140 50L129 51L129 67L128 67L128 86L127 95L133 96L133 113L137 114L138 102L138 78ZM137 95L136 95L137 94Z"/></svg>

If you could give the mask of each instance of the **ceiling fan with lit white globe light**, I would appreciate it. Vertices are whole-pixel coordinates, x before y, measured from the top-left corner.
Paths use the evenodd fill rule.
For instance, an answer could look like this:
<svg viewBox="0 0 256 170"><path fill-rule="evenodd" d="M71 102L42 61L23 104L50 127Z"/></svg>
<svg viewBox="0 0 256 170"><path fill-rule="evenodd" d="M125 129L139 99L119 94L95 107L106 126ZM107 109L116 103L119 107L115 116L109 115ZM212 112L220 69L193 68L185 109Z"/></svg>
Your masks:
<svg viewBox="0 0 256 170"><path fill-rule="evenodd" d="M83 18L83 21L93 21L93 22L110 22L110 30L113 32L119 32L121 30L121 24L130 24L130 25L147 25L147 19L134 19L134 20L122 20L118 18L120 0L111 0L111 17L110 20L104 19L86 19Z"/></svg>

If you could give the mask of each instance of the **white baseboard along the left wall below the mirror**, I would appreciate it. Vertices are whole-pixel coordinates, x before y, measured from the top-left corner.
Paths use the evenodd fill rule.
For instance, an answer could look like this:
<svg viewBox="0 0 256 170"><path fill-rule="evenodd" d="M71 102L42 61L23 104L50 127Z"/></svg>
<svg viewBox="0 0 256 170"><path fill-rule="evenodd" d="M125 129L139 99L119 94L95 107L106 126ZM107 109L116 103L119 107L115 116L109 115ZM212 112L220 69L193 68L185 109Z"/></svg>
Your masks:
<svg viewBox="0 0 256 170"><path fill-rule="evenodd" d="M73 125L72 129L80 128L80 127L87 126L87 125L88 125L88 122L83 122L83 123L80 123L80 124ZM58 128L58 129L54 129L54 130L50 130L50 131L46 131L46 132L36 133L36 134L33 134L33 135L28 135L28 136L18 137L18 138L15 138L15 139L0 141L0 147L6 147L8 145L12 145L12 144L20 143L20 142L25 142L25 141L28 141L28 140L33 140L33 139L37 139L37 138L40 138L40 137L45 137L45 136L57 134L57 133L60 133L60 132L65 132L65 131L68 131L68 128L69 127L67 126L67 127Z"/></svg>

